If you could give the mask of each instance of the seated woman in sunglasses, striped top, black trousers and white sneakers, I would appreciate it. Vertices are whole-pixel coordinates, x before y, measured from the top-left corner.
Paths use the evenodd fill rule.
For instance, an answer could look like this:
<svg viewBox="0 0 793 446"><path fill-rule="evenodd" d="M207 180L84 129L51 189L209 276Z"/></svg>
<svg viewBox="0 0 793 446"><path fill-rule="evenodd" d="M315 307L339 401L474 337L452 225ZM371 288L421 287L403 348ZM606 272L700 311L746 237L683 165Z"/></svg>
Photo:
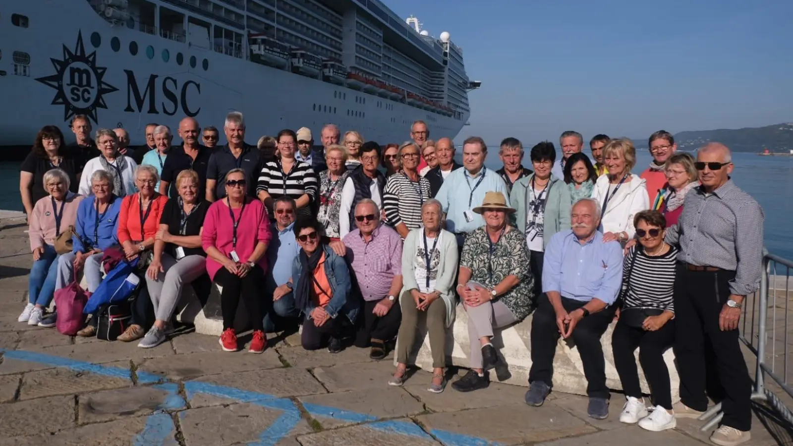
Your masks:
<svg viewBox="0 0 793 446"><path fill-rule="evenodd" d="M614 364L627 402L619 421L661 431L676 426L672 390L664 352L675 341L673 290L677 248L664 241L666 219L657 210L634 217L639 244L630 248L623 263L622 308L611 335ZM645 372L654 405L648 415L642 399L634 351Z"/></svg>

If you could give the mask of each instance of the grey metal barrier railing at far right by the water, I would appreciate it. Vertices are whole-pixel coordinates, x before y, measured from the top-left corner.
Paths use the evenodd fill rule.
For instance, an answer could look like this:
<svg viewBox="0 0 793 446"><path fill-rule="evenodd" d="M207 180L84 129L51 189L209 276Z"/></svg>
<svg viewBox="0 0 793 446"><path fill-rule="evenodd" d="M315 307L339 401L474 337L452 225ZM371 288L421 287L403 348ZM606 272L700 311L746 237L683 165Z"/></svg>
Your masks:
<svg viewBox="0 0 793 446"><path fill-rule="evenodd" d="M793 412L783 401L783 398L793 401L793 387L787 381L791 271L793 261L763 250L760 290L746 297L738 337L757 356L752 399L767 402L785 421L793 424ZM781 352L778 352L780 349ZM779 388L769 389L766 379L771 380L768 386ZM699 430L704 432L713 429L722 421L722 417L722 405L718 403L699 417L700 421L707 421Z"/></svg>

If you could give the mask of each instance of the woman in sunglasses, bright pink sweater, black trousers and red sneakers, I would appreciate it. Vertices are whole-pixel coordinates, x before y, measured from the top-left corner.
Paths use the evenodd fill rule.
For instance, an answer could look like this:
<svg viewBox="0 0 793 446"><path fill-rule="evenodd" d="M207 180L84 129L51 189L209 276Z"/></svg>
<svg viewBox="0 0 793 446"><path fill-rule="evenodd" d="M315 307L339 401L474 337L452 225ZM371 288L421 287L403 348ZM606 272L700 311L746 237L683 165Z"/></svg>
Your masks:
<svg viewBox="0 0 793 446"><path fill-rule="evenodd" d="M232 169L226 174L226 198L209 206L201 244L208 256L206 270L209 277L222 287L221 347L226 352L238 349L234 317L239 299L243 299L254 330L248 352L261 353L267 346L261 290L267 267L267 245L273 233L262 202L246 196L245 177L243 169Z"/></svg>

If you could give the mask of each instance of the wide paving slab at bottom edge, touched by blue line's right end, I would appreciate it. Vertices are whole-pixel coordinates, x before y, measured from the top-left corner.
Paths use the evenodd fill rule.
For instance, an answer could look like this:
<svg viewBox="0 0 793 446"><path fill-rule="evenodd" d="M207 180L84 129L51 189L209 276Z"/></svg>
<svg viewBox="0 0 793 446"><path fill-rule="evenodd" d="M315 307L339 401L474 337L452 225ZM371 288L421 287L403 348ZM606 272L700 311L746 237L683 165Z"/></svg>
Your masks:
<svg viewBox="0 0 793 446"><path fill-rule="evenodd" d="M446 392L444 392L446 393ZM470 398L476 398L476 393ZM536 443L566 436L579 436L597 429L573 417L564 409L546 402L542 407L526 404L471 409L461 412L433 413L419 416L430 433L444 444L454 444L456 433L476 436L498 444Z"/></svg>

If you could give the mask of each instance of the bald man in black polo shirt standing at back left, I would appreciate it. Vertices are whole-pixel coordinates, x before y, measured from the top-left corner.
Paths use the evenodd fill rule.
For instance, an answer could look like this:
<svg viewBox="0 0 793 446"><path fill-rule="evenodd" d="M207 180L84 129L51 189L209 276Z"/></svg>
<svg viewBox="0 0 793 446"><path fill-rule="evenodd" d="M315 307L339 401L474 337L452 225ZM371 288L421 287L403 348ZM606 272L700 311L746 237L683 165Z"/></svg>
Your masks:
<svg viewBox="0 0 793 446"><path fill-rule="evenodd" d="M176 181L181 171L193 170L198 174L198 193L203 197L203 192L206 189L206 168L209 165L209 156L212 155L212 149L198 144L201 126L192 117L186 117L179 121L178 135L182 138L182 145L171 148L168 157L165 159L163 175L159 183L159 193L165 194L168 191L170 198L176 198L178 196L178 187L170 187L169 189L168 186Z"/></svg>

